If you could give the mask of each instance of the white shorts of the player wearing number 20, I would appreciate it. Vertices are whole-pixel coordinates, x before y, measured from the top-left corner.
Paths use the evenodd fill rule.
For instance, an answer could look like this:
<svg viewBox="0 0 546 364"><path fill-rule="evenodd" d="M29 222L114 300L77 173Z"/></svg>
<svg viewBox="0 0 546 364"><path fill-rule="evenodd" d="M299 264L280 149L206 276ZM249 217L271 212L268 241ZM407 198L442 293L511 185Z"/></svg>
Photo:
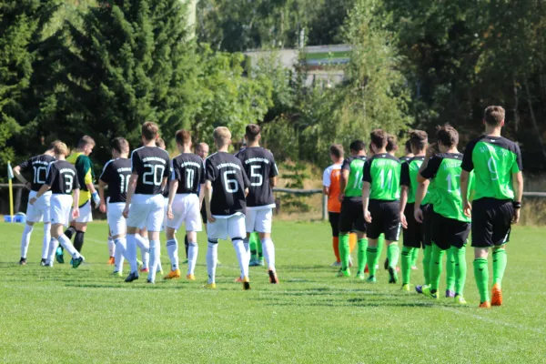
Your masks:
<svg viewBox="0 0 546 364"><path fill-rule="evenodd" d="M135 195L129 208L127 227L161 231L165 216L165 198L161 195Z"/></svg>

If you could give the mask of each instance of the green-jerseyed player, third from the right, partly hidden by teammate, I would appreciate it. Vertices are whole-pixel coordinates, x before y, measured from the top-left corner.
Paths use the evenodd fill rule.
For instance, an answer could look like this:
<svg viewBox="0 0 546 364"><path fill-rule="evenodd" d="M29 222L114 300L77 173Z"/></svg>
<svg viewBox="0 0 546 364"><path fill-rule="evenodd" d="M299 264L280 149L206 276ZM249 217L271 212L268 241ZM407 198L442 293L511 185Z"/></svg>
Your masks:
<svg viewBox="0 0 546 364"><path fill-rule="evenodd" d="M402 163L400 172L400 222L404 227L402 248L402 289L410 291L411 268L415 264L416 251L419 251L424 241L424 227L414 217L415 193L417 191L420 166L425 159L428 144L427 133L413 130L410 133L410 145L413 156ZM428 203L428 195L421 201L421 208Z"/></svg>

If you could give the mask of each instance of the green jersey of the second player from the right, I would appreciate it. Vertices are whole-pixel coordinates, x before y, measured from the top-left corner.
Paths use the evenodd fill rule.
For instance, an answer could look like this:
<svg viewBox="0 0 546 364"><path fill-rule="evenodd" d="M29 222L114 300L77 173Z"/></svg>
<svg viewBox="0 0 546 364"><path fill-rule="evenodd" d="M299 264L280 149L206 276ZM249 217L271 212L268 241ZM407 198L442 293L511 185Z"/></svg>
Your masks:
<svg viewBox="0 0 546 364"><path fill-rule="evenodd" d="M436 201L434 212L443 217L470 222L470 217L462 213L462 197L460 195L460 172L462 154L440 153L430 158L421 176L434 178L436 185ZM470 175L473 178L473 174Z"/></svg>

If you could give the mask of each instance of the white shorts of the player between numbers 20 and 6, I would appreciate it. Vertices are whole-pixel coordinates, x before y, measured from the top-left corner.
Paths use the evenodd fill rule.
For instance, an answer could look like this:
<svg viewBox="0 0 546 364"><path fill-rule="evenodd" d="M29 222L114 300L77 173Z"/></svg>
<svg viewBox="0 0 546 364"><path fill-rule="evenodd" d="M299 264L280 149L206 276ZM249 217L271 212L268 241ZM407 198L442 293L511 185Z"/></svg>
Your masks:
<svg viewBox="0 0 546 364"><path fill-rule="evenodd" d="M201 231L201 211L199 197L196 194L176 195L173 200L172 220L167 217L167 227L177 230L182 223L186 224L186 231Z"/></svg>

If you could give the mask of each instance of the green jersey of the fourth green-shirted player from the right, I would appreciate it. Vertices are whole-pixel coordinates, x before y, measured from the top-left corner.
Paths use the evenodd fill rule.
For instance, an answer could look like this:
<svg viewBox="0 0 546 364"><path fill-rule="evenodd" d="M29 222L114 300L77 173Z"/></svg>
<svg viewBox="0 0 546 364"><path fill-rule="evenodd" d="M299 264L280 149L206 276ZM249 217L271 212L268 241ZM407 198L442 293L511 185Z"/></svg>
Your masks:
<svg viewBox="0 0 546 364"><path fill-rule="evenodd" d="M396 201L400 197L400 161L389 153L369 158L364 165L364 182L370 184L369 198Z"/></svg>

